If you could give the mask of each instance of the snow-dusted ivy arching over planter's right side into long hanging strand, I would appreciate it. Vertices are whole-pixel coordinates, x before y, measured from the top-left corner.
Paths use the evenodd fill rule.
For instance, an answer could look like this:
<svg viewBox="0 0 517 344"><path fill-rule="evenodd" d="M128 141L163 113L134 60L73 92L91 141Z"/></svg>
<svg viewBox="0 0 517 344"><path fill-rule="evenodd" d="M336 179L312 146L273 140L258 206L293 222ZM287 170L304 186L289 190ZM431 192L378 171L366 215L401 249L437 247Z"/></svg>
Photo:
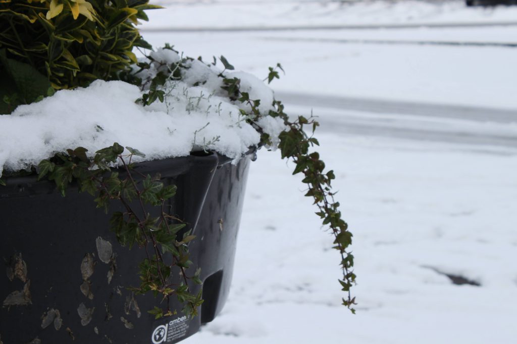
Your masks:
<svg viewBox="0 0 517 344"><path fill-rule="evenodd" d="M164 57L169 55L169 60ZM172 58L171 58L172 55ZM158 59L154 58L157 57ZM161 58L161 59L160 59ZM350 289L355 283L356 275L353 272L354 256L347 251L349 245L352 244L352 233L348 231L348 225L341 217L339 210L339 202L334 201L334 192L332 191L331 182L335 178L332 170L325 170L325 163L320 159L317 152L311 152L311 148L319 145L316 138L313 137L314 130L319 125L314 118L305 118L299 116L294 121L284 113L284 107L280 101L266 100L270 103L264 104L264 99L260 98L261 93L257 92L260 85L255 89L250 88L250 80L246 75L246 85L242 85L241 74L230 74L226 71L234 70L226 58L220 57L224 70L220 72L208 71L206 65L216 65L217 60L205 64L201 58L194 60L192 58L180 58L172 47L166 46L160 50L160 54L151 54L147 61L139 63L140 70L132 74L136 81L142 85L142 89L146 91L143 97L138 100L144 106L151 105L159 100L167 104L171 93L176 88L176 83L185 76L194 79L190 80L192 85L212 84L219 86L218 95L221 90L225 91L227 96L235 104L239 104L239 114L242 120L253 126L253 128L261 134L259 146L265 145L268 148L281 150L283 158L291 159L295 163L293 174L302 173L305 177L302 182L307 185L306 196L314 200L314 204L318 208L316 215L323 221L322 224L327 226L334 237L334 249L338 250L341 256L342 278L339 279L342 290L346 292L346 299L343 298L343 305L347 306L355 312L353 305L355 298L352 297ZM198 69L202 72L192 73L191 69ZM277 64L275 68L269 68L267 76L268 83L273 79L279 78L278 69L282 70L282 66ZM139 76L142 76L140 78ZM134 80L133 80L134 81ZM252 84L252 83L251 83ZM246 90L243 90L246 89ZM263 93L262 93L263 94ZM258 98L254 95L259 96ZM266 96L267 97L267 93ZM198 98L198 99L201 99ZM271 130L271 121L277 125L281 120L284 124L282 130ZM310 126L310 135L304 129L304 126Z"/></svg>

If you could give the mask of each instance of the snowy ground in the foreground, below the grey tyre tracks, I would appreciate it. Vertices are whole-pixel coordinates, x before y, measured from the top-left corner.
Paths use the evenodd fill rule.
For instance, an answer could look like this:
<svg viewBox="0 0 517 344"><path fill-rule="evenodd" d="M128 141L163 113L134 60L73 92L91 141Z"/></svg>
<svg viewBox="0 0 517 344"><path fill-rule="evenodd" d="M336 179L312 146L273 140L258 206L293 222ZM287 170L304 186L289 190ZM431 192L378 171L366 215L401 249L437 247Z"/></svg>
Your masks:
<svg viewBox="0 0 517 344"><path fill-rule="evenodd" d="M357 315L339 305L337 255L298 178L264 152L249 177L230 299L185 342L513 343L515 155L320 138L355 234Z"/></svg>

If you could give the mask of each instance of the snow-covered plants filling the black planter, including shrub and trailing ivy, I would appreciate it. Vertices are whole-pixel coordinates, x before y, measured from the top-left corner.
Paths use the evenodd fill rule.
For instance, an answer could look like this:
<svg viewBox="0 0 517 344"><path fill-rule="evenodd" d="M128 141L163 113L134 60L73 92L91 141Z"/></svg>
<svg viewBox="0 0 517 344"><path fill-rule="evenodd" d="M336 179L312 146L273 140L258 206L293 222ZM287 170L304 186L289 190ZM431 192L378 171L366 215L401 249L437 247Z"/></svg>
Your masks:
<svg viewBox="0 0 517 344"><path fill-rule="evenodd" d="M202 303L202 294L192 294L189 288L190 283L201 283L200 271L194 269L188 253L188 243L195 237L182 231L182 219L171 216L164 207L176 189L165 186L159 176L136 173L134 163L188 155L192 151L217 151L238 160L265 147L280 149L282 158L294 162L293 174L304 175L306 196L313 199L316 215L333 234L333 248L340 254L339 283L346 293L343 304L355 312L355 298L350 292L355 283L354 257L348 250L352 234L341 217L339 203L333 199L334 173L325 169L325 163L313 151L319 145L313 137L319 125L314 118L287 116L282 103L275 100L262 80L235 72L222 56L220 63L216 58L206 63L201 58L184 57L166 45L136 61L131 48L147 45L133 24L136 18L145 19L142 10L150 8L147 1L12 0L7 6L0 7L0 15L5 16L0 18L7 20L0 22L0 28L7 32L0 34L0 72L11 76L8 82L16 86L21 98L15 102L6 93L9 88L0 86L0 91L10 107L39 103L23 105L9 116L0 116L13 132L29 122L34 126L26 137L2 147L2 174L12 175L23 169L37 173L40 179L54 181L63 195L70 183L76 183L80 191L93 196L99 208L107 209L111 202L121 202L125 211L112 215L111 230L122 245L138 245L147 254L140 265L141 285L133 286L135 292L152 292L164 299L176 297L187 315L195 315ZM27 30L32 25L43 27L42 35L49 40L45 43L38 41L42 36L37 36L36 41L20 36L15 32L16 25L26 26ZM59 29L61 25L69 30ZM90 42L86 37L92 35L107 36ZM45 45L44 51L28 50L32 44L42 49ZM56 54L54 48L58 50ZM23 74L24 70L27 74ZM278 78L280 70L280 64L271 67L265 80L270 83ZM30 93L20 84L20 71L25 78L37 80L38 92ZM105 81L112 79L118 81ZM90 85L92 80L95 81ZM90 86L80 88L87 85ZM47 92L49 88L51 91ZM77 90L58 90L53 94L60 88ZM43 95L51 94L42 100ZM110 106L113 100L120 104ZM108 108L109 114L102 112ZM74 117L77 122L73 122ZM48 121L75 124L66 130L53 130L53 123ZM184 132L179 133L178 129ZM153 133L153 138L141 139L144 130ZM126 148L113 143L113 137ZM34 150L34 146L39 149ZM17 152L25 153L23 161ZM113 169L117 166L121 170ZM171 255L172 263L166 263L164 255ZM169 276L177 272L184 281L172 286ZM155 307L149 312L159 318L172 315L175 310Z"/></svg>

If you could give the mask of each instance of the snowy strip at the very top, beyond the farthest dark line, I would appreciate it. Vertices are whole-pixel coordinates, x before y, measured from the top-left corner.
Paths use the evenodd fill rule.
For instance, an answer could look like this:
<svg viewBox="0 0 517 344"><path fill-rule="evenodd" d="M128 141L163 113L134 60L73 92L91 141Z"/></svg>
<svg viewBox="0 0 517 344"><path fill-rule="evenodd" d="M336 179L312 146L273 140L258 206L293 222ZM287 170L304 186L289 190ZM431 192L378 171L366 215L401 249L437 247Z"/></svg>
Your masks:
<svg viewBox="0 0 517 344"><path fill-rule="evenodd" d="M517 21L517 8L467 8L463 0L157 0L155 3L169 9L150 14L149 27L153 28L457 25Z"/></svg>

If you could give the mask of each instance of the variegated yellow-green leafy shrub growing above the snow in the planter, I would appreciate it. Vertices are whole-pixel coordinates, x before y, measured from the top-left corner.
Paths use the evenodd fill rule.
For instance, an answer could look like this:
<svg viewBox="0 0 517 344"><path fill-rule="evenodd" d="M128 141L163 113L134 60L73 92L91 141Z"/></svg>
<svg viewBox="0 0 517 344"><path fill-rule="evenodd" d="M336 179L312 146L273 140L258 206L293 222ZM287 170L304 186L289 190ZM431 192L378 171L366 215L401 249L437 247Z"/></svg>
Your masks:
<svg viewBox="0 0 517 344"><path fill-rule="evenodd" d="M148 0L0 1L0 113L48 95L48 88L118 79L150 48L135 25Z"/></svg>

